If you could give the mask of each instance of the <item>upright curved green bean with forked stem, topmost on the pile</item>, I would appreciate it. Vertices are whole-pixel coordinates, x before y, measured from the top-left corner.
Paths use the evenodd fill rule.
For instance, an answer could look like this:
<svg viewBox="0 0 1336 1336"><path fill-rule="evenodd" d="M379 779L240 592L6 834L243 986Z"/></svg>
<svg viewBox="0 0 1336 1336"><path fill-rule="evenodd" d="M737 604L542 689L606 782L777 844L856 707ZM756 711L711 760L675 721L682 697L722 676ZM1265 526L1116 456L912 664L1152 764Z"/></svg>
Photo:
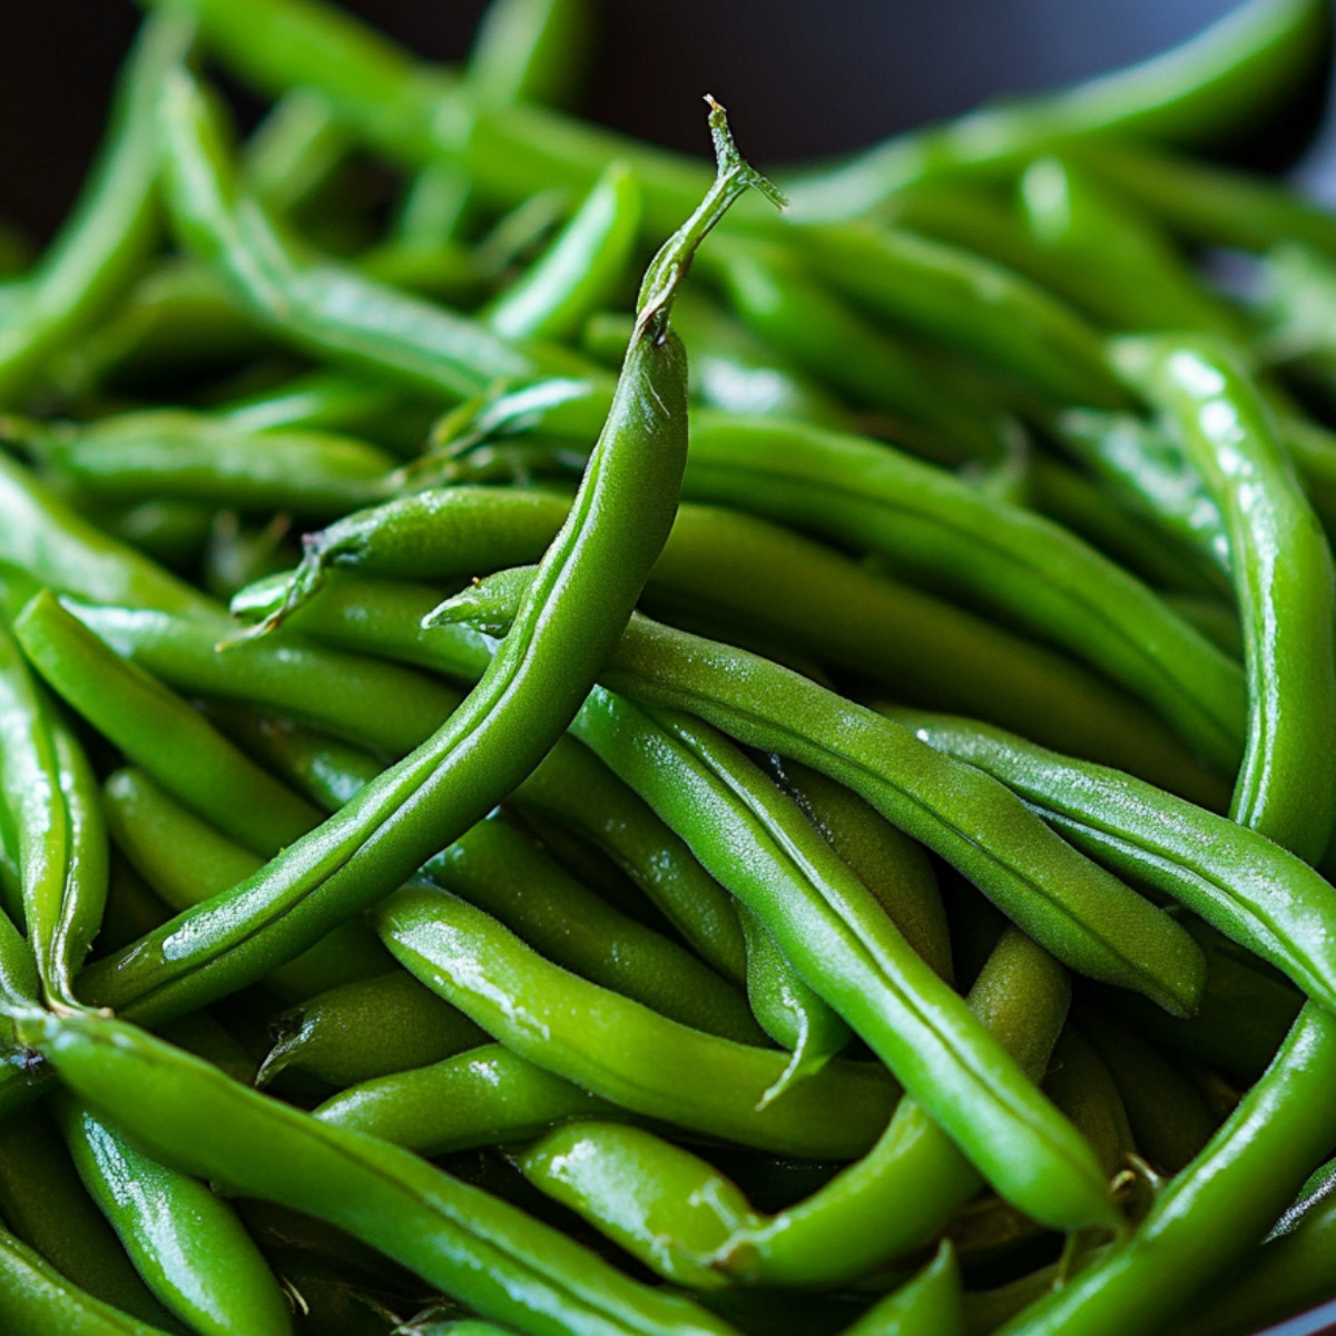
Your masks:
<svg viewBox="0 0 1336 1336"><path fill-rule="evenodd" d="M565 731L672 525L687 448L685 365L668 327L673 294L723 211L762 180L733 150L721 108L711 114L711 128L717 182L651 262L615 410L532 597L477 687L432 739L333 822L228 896L87 971L87 991L99 1003L124 1009L135 998L135 1014L160 1015L261 978L402 883L520 783Z"/></svg>

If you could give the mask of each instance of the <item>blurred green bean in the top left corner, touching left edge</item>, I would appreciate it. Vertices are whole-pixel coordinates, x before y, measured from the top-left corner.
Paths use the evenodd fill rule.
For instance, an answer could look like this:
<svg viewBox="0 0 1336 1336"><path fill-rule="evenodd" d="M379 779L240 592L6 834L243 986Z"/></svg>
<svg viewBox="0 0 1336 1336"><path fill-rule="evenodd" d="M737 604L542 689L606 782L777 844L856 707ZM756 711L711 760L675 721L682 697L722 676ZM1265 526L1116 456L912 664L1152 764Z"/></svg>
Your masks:
<svg viewBox="0 0 1336 1336"><path fill-rule="evenodd" d="M0 401L11 402L53 353L120 295L156 242L154 106L187 52L194 23L151 19L116 88L107 138L69 220L13 291L0 333Z"/></svg>

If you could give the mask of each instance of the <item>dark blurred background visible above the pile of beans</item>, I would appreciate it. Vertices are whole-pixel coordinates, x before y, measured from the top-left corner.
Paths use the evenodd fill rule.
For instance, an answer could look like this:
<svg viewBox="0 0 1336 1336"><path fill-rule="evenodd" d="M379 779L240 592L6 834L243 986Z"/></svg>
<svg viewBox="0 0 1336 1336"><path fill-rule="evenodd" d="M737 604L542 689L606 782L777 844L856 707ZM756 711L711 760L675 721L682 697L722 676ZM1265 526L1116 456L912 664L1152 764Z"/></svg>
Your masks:
<svg viewBox="0 0 1336 1336"><path fill-rule="evenodd" d="M582 114L705 152L699 99L709 91L728 104L752 160L774 166L1140 59L1236 0L595 3L600 31ZM485 0L346 7L424 56L458 60ZM39 234L60 219L136 23L130 0L0 0L0 216ZM1268 132L1261 156L1284 160L1311 130L1309 119ZM1328 158L1336 152L1324 146L1309 175Z"/></svg>

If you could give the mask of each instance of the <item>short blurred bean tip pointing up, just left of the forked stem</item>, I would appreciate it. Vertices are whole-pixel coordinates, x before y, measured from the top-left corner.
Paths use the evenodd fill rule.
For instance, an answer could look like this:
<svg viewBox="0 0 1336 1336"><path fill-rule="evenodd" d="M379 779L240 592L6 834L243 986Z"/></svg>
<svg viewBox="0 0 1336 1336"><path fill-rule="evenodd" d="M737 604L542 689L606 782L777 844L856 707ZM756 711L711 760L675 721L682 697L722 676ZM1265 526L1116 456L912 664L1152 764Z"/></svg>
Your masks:
<svg viewBox="0 0 1336 1336"><path fill-rule="evenodd" d="M546 251L480 313L506 339L569 338L623 281L640 222L636 178L613 164Z"/></svg>

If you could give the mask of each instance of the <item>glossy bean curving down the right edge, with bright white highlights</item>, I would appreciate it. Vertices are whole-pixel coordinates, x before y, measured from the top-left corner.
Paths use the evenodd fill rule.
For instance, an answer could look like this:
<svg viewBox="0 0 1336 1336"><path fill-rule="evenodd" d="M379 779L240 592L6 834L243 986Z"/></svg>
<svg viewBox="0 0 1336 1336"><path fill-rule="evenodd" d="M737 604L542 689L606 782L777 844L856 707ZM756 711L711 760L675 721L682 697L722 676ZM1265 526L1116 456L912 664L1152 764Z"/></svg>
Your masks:
<svg viewBox="0 0 1336 1336"><path fill-rule="evenodd" d="M1248 739L1230 815L1309 862L1336 820L1336 573L1261 394L1208 337L1128 341L1114 358L1168 411L1225 518Z"/></svg>

